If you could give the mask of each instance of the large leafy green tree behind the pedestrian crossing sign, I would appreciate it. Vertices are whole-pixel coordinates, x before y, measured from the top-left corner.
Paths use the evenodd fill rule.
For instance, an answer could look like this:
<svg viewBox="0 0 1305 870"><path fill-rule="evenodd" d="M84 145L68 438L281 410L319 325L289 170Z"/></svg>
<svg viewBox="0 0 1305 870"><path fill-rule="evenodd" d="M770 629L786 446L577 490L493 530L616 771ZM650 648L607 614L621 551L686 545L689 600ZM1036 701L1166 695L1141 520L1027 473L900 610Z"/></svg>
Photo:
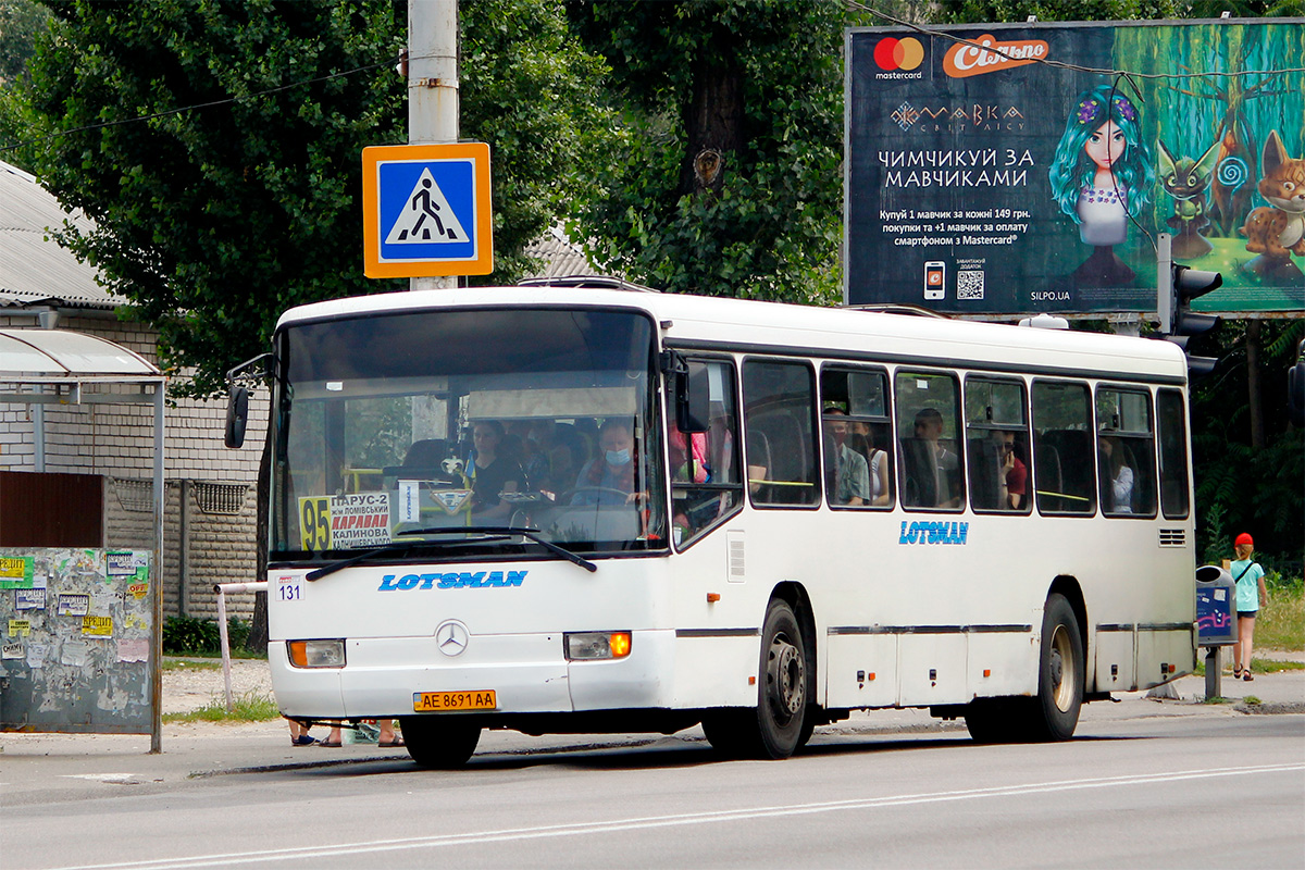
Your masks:
<svg viewBox="0 0 1305 870"><path fill-rule="evenodd" d="M291 305L406 288L364 278L359 205L361 149L407 140L393 72L406 4L47 5L55 22L21 111L23 138L51 138L21 158L97 222L60 240L159 330L166 364L194 369L183 391L219 390ZM512 280L566 190L587 184L570 167L602 123L602 67L574 47L557 3L462 7L461 133L493 147L492 278Z"/></svg>

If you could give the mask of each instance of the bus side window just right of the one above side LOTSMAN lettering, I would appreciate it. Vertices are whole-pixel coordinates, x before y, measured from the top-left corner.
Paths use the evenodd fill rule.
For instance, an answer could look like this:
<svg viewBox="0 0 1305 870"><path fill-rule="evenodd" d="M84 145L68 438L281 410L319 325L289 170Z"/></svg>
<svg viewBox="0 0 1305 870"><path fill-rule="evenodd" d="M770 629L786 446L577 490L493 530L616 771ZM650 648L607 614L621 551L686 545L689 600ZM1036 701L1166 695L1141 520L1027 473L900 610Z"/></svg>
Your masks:
<svg viewBox="0 0 1305 870"><path fill-rule="evenodd" d="M1030 510L1028 425L1019 381L966 380L966 457L970 506Z"/></svg>

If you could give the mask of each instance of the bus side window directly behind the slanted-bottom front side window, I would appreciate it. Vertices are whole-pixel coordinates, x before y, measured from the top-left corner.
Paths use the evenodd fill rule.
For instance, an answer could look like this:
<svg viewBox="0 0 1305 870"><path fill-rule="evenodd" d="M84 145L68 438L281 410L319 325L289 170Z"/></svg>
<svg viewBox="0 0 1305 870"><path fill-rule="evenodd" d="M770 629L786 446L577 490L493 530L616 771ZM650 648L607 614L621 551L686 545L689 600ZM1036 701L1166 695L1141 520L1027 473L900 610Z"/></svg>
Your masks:
<svg viewBox="0 0 1305 870"><path fill-rule="evenodd" d="M748 360L743 365L743 400L753 503L817 505L816 383L810 367Z"/></svg>

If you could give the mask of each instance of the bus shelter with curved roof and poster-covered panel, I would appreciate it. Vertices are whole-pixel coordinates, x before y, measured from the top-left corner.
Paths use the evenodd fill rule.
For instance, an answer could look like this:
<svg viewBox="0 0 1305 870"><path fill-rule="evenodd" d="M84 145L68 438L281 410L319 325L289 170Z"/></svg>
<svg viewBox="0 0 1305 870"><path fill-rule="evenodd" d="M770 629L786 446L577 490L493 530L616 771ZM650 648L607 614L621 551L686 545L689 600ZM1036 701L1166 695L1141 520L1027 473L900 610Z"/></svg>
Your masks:
<svg viewBox="0 0 1305 870"><path fill-rule="evenodd" d="M164 393L154 364L106 339L0 329L0 403L30 407L35 472L0 480L0 544L14 544L0 545L0 730L147 733L150 753L162 751ZM153 406L146 549L108 547L103 531L99 547L43 540L33 523L43 510L86 510L86 490L67 481L95 480L46 473L50 417L65 416L50 410L100 404Z"/></svg>

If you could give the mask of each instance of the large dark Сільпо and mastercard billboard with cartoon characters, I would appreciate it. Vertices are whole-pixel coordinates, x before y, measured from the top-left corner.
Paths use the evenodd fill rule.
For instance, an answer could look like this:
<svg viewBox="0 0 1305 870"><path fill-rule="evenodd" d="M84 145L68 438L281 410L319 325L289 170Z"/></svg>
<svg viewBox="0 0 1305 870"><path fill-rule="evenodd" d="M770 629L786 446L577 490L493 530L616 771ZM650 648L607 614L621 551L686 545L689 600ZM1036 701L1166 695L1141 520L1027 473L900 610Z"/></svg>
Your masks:
<svg viewBox="0 0 1305 870"><path fill-rule="evenodd" d="M1168 232L1223 274L1195 309L1305 309L1300 20L852 29L846 59L846 304L1154 312Z"/></svg>

